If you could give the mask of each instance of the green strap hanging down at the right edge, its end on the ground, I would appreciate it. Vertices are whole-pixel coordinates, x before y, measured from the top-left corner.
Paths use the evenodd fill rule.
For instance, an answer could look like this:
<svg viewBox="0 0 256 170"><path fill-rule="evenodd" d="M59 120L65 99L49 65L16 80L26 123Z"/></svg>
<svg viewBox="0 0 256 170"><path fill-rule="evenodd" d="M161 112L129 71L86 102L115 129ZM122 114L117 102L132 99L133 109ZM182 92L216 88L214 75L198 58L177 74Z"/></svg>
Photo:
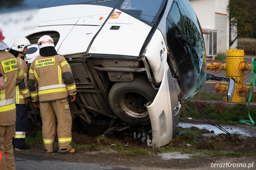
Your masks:
<svg viewBox="0 0 256 170"><path fill-rule="evenodd" d="M251 90L250 90L250 97L248 100L248 105L249 105L249 109L248 109L248 115L249 115L249 119L250 120L240 120L239 122L241 124L253 124L254 126L256 125L256 121L252 120L252 117L250 116L250 101L252 98L252 91L253 91L253 85L256 85L256 59L252 58L252 67L251 67Z"/></svg>

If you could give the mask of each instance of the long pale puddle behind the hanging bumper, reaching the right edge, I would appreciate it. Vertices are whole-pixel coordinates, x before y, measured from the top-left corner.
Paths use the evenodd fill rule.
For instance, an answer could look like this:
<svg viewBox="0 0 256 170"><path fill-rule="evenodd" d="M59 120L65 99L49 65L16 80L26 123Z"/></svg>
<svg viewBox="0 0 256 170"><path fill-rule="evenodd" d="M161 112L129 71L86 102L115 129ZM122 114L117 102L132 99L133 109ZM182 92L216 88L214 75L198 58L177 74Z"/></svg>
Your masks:
<svg viewBox="0 0 256 170"><path fill-rule="evenodd" d="M189 127L198 127L198 128L205 128L208 129L209 131L213 130L214 131L214 135L218 135L220 133L225 133L222 130L218 129L215 126L212 126L210 124L204 124L204 123L189 123L189 122L179 122L179 127L183 127L183 128L189 128ZM245 125L245 127L240 127L240 126L236 126L236 125L222 125L221 126L223 129L225 129L226 131L228 131L230 134L241 134L243 136L256 136L255 135L255 127L252 125ZM228 128L228 129L227 129ZM230 128L232 128L232 130L230 130Z"/></svg>

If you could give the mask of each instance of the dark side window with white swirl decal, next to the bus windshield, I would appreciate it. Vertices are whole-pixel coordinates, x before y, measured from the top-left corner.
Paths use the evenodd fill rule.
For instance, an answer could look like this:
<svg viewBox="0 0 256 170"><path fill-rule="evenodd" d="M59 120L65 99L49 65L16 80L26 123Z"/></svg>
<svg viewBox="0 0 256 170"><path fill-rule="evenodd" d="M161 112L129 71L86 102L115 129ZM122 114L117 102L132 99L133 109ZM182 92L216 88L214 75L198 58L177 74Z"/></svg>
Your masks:
<svg viewBox="0 0 256 170"><path fill-rule="evenodd" d="M152 27L162 12L165 3L166 0L123 0L117 9Z"/></svg>

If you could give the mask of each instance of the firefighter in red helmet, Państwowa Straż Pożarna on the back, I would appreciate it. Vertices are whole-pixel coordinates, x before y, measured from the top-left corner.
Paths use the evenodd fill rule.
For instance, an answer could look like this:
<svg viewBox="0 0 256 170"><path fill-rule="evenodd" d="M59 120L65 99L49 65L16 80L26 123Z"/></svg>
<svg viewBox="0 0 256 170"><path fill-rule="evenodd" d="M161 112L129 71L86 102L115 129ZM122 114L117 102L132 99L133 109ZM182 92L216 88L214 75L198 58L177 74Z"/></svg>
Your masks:
<svg viewBox="0 0 256 170"><path fill-rule="evenodd" d="M12 147L12 134L16 121L15 85L24 81L24 74L15 57L4 51L8 46L3 42L5 37L0 32L0 72L6 88L0 91L0 148L3 158L1 170L14 170L15 162Z"/></svg>

